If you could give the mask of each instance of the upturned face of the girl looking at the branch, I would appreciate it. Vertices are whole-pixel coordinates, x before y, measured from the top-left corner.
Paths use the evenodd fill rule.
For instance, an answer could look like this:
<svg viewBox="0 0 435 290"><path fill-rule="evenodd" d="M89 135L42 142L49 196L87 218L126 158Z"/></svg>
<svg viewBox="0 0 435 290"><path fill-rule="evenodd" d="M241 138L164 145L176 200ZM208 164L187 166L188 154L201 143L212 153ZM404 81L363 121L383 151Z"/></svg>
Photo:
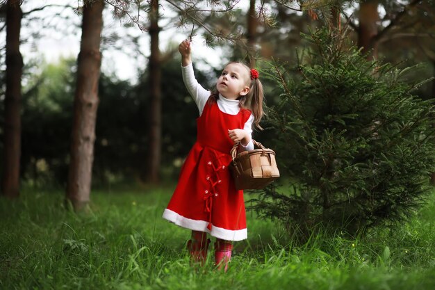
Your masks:
<svg viewBox="0 0 435 290"><path fill-rule="evenodd" d="M245 67L240 63L229 63L219 79L216 88L220 94L227 99L237 99L249 92L249 75Z"/></svg>

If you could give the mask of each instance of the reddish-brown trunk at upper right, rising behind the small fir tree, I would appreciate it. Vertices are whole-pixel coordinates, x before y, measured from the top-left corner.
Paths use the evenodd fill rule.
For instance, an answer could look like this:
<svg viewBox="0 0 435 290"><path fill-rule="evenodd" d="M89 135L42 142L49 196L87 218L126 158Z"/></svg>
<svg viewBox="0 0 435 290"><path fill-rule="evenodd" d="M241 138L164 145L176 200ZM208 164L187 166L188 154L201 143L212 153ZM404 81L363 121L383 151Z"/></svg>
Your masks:
<svg viewBox="0 0 435 290"><path fill-rule="evenodd" d="M367 58L377 59L377 42L374 40L377 35L377 12L378 0L366 0L359 4L359 33L358 47L362 47L362 53Z"/></svg>

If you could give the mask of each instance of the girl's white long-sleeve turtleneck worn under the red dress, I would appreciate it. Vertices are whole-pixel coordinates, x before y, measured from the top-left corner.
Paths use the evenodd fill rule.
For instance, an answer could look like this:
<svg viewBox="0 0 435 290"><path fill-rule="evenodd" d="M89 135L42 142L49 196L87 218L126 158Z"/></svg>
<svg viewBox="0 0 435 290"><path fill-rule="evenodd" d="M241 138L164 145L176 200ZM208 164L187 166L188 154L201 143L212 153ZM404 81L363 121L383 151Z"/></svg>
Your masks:
<svg viewBox="0 0 435 290"><path fill-rule="evenodd" d="M187 65L186 67L181 66L181 71L183 73L183 81L184 85L188 89L190 95L192 95L193 100L197 104L199 115L202 115L202 111L204 110L204 106L206 106L206 102L211 95L211 91L203 88L195 78L195 73L193 72L192 63ZM217 106L220 111L230 114L237 115L240 111L239 101L237 99L227 99L226 97L219 94L219 98L217 99ZM249 119L245 122L245 126L243 129L247 131L250 137L249 143L247 143L245 150L254 150L254 143L252 143L252 122L254 122L254 115L249 117ZM234 129L234 128L229 128Z"/></svg>

